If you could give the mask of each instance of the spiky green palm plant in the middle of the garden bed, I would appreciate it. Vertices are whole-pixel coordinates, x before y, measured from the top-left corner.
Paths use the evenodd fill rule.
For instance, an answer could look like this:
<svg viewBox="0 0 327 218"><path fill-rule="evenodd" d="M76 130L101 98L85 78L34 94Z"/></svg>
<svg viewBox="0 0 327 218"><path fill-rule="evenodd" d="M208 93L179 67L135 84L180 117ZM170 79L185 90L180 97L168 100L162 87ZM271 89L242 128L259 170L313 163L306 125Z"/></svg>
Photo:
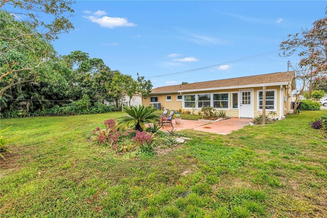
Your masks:
<svg viewBox="0 0 327 218"><path fill-rule="evenodd" d="M118 118L119 124L124 124L126 126L134 124L135 130L140 132L146 129L146 123L152 123L159 120L159 115L156 113L156 110L152 105L131 105L130 107L124 107L124 112L128 115Z"/></svg>

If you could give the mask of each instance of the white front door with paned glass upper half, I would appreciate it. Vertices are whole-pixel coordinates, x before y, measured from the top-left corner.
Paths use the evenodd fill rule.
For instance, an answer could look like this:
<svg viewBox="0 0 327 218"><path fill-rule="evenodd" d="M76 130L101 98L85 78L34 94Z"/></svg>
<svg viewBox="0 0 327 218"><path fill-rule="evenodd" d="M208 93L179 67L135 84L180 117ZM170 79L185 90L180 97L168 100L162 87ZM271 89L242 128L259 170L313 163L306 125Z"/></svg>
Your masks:
<svg viewBox="0 0 327 218"><path fill-rule="evenodd" d="M240 91L240 117L253 118L253 91Z"/></svg>

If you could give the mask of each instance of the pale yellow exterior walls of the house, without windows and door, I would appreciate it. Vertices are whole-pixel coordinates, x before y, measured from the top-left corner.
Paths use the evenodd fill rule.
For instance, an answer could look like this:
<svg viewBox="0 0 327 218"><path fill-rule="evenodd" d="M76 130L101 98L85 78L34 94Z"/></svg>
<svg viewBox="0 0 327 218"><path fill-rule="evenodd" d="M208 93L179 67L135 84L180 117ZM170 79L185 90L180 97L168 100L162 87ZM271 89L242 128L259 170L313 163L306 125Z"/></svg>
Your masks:
<svg viewBox="0 0 327 218"><path fill-rule="evenodd" d="M160 103L161 108L169 108L170 110L178 110L179 108L182 108L184 110L194 111L195 114L197 114L199 111L201 111L201 107L196 107L195 110L190 106L185 106L185 96L196 96L196 99L198 98L198 95L208 95L210 96L210 100L203 100L200 104L209 104L211 106L220 105L217 99L214 100L214 95L220 96L223 95L226 97L228 95L228 103L224 104L224 106L228 105L228 107L220 108L215 107L216 110L224 110L226 111L226 116L228 117L240 117L240 101L241 101L241 92L242 90L250 90L252 93L252 99L253 99L253 117L259 116L262 114L262 109L260 108L259 104L259 94L262 92L263 87L253 87L248 89L226 89L226 90L209 90L209 91L199 91L199 92L183 92L183 93L169 93L169 94L150 94L147 99L143 99L143 103L145 105L149 105L151 103ZM291 93L292 88L288 85L275 85L275 86L266 86L266 92L269 92L271 95L273 93L273 108L269 109L266 108L266 114L270 112L275 112L274 117L276 118L283 118L286 114L289 113L291 110ZM218 94L218 95L217 95ZM169 96L169 97L167 97ZM181 96L181 97L177 97ZM157 102L151 102L151 97L154 97L154 99L157 99ZM237 104L235 102L235 99L237 98ZM268 97L266 100L268 102L272 102L271 98L272 96ZM233 102L234 100L234 102ZM269 101L270 100L270 101ZM199 101L195 101L197 106L199 104ZM215 102L215 103L214 103ZM262 100L261 100L262 102ZM269 105L266 105L269 106ZM272 105L271 105L272 107Z"/></svg>

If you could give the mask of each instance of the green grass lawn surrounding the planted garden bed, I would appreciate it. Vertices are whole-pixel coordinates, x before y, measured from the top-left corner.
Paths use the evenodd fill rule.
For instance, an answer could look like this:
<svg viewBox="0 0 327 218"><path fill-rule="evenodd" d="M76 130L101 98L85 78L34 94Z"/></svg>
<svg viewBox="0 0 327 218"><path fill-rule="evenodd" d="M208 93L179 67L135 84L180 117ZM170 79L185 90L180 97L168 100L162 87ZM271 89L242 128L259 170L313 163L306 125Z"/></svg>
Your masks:
<svg viewBox="0 0 327 218"><path fill-rule="evenodd" d="M165 155L116 155L90 140L121 112L1 120L3 217L326 217L327 141L289 115L230 135L193 130ZM161 153L160 153L161 154Z"/></svg>

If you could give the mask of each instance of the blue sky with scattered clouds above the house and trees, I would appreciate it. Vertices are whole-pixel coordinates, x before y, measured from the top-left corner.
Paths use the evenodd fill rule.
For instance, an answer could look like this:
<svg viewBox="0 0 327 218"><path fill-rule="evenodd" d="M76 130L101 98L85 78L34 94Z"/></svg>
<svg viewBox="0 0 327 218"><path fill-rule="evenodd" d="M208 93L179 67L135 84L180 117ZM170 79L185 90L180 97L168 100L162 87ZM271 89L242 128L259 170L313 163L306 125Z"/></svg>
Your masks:
<svg viewBox="0 0 327 218"><path fill-rule="evenodd" d="M325 17L327 1L77 1L53 42L153 87L287 71L279 43ZM198 69L198 70L197 70ZM194 70L194 71L193 71ZM186 71L186 72L185 72Z"/></svg>

